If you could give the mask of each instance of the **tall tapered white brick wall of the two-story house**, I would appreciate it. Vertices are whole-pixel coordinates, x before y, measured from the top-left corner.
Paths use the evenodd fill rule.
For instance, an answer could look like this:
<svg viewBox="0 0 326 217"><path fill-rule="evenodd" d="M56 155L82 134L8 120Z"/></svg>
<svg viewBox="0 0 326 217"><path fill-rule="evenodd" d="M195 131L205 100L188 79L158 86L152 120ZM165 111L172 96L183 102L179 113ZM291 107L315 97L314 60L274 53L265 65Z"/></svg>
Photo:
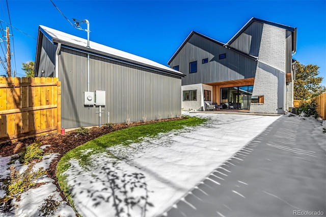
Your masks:
<svg viewBox="0 0 326 217"><path fill-rule="evenodd" d="M253 96L263 95L264 103L252 103L250 112L285 112L285 34L277 26L263 26Z"/></svg>

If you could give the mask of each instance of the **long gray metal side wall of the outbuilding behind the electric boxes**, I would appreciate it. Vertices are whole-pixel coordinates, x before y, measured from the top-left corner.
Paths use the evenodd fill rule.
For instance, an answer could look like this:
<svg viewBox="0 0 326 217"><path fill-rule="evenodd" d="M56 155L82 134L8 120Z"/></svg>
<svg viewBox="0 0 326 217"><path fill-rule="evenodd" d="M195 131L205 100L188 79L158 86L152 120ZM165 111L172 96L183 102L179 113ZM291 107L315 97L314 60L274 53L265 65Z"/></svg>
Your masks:
<svg viewBox="0 0 326 217"><path fill-rule="evenodd" d="M98 107L85 107L87 55L62 48L59 56L62 84L62 126L65 128L98 125ZM176 117L181 112L181 79L155 73L137 66L90 58L90 91L105 90L106 105L101 124L123 123Z"/></svg>

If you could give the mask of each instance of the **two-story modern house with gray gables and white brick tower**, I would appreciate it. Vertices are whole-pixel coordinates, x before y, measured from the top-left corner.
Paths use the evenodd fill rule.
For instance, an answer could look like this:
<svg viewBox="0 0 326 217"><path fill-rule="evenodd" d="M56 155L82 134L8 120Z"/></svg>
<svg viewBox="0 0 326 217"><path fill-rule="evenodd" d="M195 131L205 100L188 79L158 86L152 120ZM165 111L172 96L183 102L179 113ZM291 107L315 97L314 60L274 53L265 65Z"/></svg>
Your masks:
<svg viewBox="0 0 326 217"><path fill-rule="evenodd" d="M253 113L293 107L296 28L250 19L227 43L191 32L168 64L182 77L184 110L205 103Z"/></svg>

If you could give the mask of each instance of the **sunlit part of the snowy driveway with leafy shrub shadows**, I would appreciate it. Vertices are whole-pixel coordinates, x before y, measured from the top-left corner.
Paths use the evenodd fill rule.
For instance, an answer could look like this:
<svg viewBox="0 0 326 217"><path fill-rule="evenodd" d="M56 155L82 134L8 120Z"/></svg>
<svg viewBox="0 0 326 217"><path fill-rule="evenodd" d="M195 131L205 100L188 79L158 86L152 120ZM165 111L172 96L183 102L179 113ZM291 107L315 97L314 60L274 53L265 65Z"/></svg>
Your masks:
<svg viewBox="0 0 326 217"><path fill-rule="evenodd" d="M160 134L129 147L76 160L64 173L83 216L158 216L280 117L190 114L207 118L196 127Z"/></svg>

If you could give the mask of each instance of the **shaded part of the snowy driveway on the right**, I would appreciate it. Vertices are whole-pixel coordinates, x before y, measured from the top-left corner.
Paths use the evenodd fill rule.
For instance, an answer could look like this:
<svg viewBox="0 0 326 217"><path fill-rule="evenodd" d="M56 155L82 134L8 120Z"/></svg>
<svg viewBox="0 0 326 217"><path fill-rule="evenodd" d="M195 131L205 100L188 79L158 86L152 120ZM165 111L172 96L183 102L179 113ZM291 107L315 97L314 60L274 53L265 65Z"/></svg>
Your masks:
<svg viewBox="0 0 326 217"><path fill-rule="evenodd" d="M280 117L167 216L324 216L326 122L322 124L312 117Z"/></svg>

